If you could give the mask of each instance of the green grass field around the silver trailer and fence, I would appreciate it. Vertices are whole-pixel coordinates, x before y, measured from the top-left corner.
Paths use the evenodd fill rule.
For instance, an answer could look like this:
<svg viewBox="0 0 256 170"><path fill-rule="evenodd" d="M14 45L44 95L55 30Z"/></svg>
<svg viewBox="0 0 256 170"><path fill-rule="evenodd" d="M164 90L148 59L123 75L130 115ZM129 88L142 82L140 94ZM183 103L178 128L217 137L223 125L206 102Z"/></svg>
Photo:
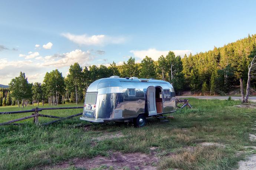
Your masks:
<svg viewBox="0 0 256 170"><path fill-rule="evenodd" d="M233 107L240 104L239 101L190 99L190 103L193 109L178 110L173 114L174 119L168 122L148 119L147 126L142 128L129 124L93 123L89 130L85 130L84 126L89 123L80 121L79 117L46 127L36 127L32 119L26 120L23 126L2 126L0 169L37 169L73 158L109 156L109 151L150 154L151 147L157 148L156 156L160 158L153 165L157 169L235 169L237 162L246 154L255 153L244 148L256 144L249 140L249 134L255 134L252 130L256 120L255 109ZM14 110L22 109L0 107L0 111ZM42 114L68 116L81 111L47 110ZM0 122L30 114L0 115ZM40 123L49 120L53 119L39 117ZM120 132L123 134L121 137L93 142L95 137L105 133ZM219 143L221 146L201 146L202 142ZM237 154L239 152L242 154ZM104 168L113 169L104 165L98 169ZM68 169L76 168L70 163Z"/></svg>

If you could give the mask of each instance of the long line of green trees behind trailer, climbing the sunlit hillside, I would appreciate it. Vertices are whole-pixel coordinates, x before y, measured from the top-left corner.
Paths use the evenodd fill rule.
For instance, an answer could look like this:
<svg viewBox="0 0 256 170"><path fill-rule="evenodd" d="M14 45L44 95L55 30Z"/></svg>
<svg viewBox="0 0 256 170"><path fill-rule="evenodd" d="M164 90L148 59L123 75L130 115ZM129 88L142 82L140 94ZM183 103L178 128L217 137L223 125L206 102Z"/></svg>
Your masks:
<svg viewBox="0 0 256 170"><path fill-rule="evenodd" d="M56 106L66 102L80 102L86 89L95 80L110 77L138 77L161 79L173 84L176 93L191 90L194 94L226 94L239 85L246 86L248 66L256 54L256 35L229 43L213 50L191 53L182 58L172 51L160 56L157 61L146 56L140 63L130 57L122 65L116 63L106 67L92 65L81 67L74 63L66 77L58 69L46 72L42 83L28 83L25 73L9 83L9 89L0 89L0 106L29 106L42 102ZM255 72L255 70L254 70ZM253 73L254 73L253 72ZM250 78L250 87L255 89L255 76Z"/></svg>

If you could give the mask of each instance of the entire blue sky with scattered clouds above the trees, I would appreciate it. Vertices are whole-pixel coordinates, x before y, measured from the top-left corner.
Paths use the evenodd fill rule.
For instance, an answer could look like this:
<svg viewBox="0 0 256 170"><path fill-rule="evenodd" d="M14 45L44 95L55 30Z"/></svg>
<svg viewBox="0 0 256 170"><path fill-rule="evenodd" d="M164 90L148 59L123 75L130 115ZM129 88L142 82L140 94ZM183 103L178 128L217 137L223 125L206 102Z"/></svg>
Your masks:
<svg viewBox="0 0 256 170"><path fill-rule="evenodd" d="M69 65L193 54L256 33L256 1L0 1L0 84ZM36 45L39 45L36 47ZM45 45L45 46L44 46Z"/></svg>

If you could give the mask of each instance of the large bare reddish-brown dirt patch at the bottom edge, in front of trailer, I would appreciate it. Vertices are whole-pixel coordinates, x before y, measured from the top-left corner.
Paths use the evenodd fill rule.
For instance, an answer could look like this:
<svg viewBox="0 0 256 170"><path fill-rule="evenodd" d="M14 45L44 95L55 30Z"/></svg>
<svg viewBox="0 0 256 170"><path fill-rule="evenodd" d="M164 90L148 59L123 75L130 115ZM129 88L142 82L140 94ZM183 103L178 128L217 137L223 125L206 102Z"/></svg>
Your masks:
<svg viewBox="0 0 256 170"><path fill-rule="evenodd" d="M66 169L70 166L76 168L92 169L101 166L113 166L114 169L121 169L122 167L129 167L131 170L155 170L159 159L153 154L148 155L144 153L126 153L121 152L112 153L109 157L96 156L92 159L73 159L57 164L56 166L48 166L42 169ZM70 165L70 163L72 163Z"/></svg>

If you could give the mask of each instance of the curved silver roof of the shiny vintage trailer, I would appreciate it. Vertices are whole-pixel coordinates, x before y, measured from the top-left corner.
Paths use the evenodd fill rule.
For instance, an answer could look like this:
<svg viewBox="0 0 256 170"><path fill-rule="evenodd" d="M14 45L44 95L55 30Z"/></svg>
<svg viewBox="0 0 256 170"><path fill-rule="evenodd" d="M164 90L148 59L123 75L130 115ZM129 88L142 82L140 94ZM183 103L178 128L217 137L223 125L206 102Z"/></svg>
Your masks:
<svg viewBox="0 0 256 170"><path fill-rule="evenodd" d="M103 79L94 81L88 87L87 92L97 92L98 89L106 88L106 87L122 87L121 82L164 83L164 84L169 84L171 86L169 82L163 81L163 80L138 79L137 77L120 78L118 76L111 76L108 78L103 78Z"/></svg>

